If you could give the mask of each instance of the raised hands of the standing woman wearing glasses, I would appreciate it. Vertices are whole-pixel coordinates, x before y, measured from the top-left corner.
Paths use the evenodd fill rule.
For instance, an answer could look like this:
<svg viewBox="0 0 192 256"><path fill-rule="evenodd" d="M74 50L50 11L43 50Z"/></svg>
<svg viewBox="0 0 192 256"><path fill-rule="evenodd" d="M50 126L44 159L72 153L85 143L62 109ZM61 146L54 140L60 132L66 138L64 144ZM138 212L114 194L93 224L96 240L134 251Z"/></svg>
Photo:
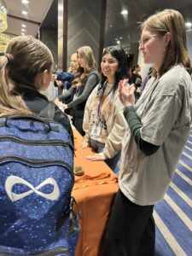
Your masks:
<svg viewBox="0 0 192 256"><path fill-rule="evenodd" d="M135 104L134 91L136 90L134 84L127 84L128 79L119 81L119 100L125 107L133 106Z"/></svg>

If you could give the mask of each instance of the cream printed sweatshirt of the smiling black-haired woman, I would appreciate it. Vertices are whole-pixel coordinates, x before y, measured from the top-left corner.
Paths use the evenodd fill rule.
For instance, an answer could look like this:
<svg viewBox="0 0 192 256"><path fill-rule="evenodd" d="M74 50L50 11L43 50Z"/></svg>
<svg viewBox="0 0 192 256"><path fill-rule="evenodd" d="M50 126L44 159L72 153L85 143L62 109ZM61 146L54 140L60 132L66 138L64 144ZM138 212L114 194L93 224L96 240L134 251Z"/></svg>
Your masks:
<svg viewBox="0 0 192 256"><path fill-rule="evenodd" d="M121 149L121 140L127 128L123 115L123 104L119 101L118 90L113 94L113 84L107 84L102 102L97 96L98 86L90 94L84 109L84 139L90 138L104 143L104 159L112 158Z"/></svg>

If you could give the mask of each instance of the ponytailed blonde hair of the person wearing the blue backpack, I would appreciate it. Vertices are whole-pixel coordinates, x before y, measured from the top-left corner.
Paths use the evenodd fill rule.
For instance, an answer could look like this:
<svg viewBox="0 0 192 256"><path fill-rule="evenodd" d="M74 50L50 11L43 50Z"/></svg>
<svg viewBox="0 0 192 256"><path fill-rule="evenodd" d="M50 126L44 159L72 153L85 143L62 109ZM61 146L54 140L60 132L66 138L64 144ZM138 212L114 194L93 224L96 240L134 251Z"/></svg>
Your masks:
<svg viewBox="0 0 192 256"><path fill-rule="evenodd" d="M53 57L42 42L32 36L11 39L0 57L0 116L32 113L22 99L25 89L38 91L38 73L50 70Z"/></svg>

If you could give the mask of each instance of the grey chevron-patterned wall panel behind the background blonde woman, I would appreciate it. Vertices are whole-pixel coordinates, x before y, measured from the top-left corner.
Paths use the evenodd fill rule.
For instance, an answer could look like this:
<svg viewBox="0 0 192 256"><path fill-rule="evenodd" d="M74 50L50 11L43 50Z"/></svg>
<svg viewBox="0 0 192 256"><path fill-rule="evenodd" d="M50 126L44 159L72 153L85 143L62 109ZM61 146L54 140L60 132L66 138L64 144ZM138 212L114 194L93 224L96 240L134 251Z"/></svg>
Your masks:
<svg viewBox="0 0 192 256"><path fill-rule="evenodd" d="M99 59L102 0L68 1L67 60L79 47L89 45Z"/></svg>

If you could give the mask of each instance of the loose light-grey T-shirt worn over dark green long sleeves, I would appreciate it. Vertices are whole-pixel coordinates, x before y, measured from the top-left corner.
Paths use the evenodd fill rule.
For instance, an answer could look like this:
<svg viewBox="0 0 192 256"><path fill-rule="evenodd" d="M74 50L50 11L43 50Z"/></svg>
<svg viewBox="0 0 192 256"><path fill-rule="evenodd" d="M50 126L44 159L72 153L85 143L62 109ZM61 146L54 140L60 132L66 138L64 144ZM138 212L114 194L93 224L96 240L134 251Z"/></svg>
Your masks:
<svg viewBox="0 0 192 256"><path fill-rule="evenodd" d="M142 122L142 139L160 148L146 156L128 128L121 151L119 187L134 203L154 205L163 199L189 136L192 114L189 73L177 66L160 79L150 79L136 108Z"/></svg>

